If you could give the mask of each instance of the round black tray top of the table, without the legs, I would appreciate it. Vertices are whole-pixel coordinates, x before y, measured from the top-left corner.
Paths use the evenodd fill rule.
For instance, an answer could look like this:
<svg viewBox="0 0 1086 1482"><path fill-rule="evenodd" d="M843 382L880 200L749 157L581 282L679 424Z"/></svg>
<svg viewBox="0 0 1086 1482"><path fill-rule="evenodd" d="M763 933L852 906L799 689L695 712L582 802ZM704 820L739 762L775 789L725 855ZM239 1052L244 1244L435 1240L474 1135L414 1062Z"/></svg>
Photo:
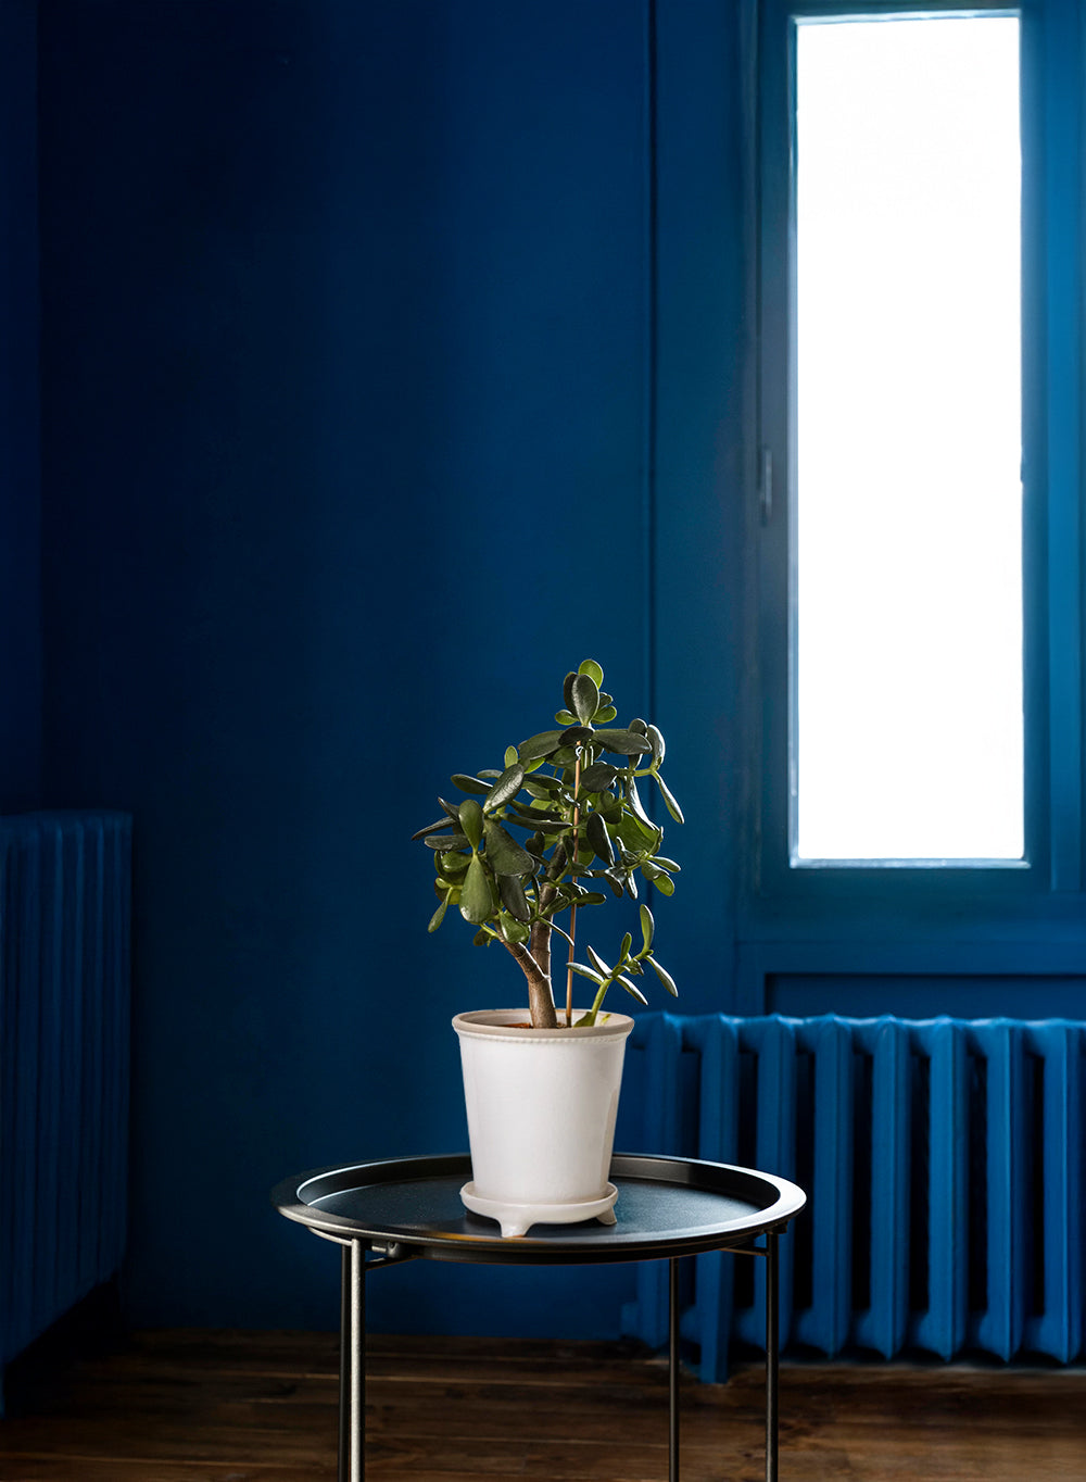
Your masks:
<svg viewBox="0 0 1086 1482"><path fill-rule="evenodd" d="M338 1240L363 1240L437 1261L593 1264L642 1261L750 1246L782 1229L806 1203L796 1184L753 1168L690 1157L616 1153L612 1226L535 1224L502 1239L498 1224L468 1214L459 1190L467 1153L319 1168L284 1178L273 1203L287 1220Z"/></svg>

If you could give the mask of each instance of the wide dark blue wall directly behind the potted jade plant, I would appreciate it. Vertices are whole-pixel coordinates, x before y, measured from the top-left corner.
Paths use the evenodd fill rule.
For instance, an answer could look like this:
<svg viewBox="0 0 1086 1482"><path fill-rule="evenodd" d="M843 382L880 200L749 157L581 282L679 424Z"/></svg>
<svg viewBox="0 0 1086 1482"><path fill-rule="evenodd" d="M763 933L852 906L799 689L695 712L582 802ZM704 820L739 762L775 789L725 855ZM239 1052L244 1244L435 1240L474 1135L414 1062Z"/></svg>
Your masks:
<svg viewBox="0 0 1086 1482"><path fill-rule="evenodd" d="M724 9L689 15L726 47ZM270 1186L465 1146L449 1017L520 993L427 937L409 834L582 657L644 713L653 602L674 628L683 542L713 562L713 479L673 519L647 470L646 7L52 0L40 47L44 766L136 820L130 1315L332 1326L335 1252ZM692 848L679 971L720 925ZM373 1320L618 1331L621 1269L513 1275L388 1273Z"/></svg>

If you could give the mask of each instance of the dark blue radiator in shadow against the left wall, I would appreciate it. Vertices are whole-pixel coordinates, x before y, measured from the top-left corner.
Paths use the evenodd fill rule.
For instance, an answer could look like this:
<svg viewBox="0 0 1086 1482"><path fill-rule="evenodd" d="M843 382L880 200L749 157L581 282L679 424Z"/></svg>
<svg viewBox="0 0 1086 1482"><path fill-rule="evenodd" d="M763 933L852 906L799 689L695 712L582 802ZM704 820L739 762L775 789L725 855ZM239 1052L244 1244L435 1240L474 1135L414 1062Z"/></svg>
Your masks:
<svg viewBox="0 0 1086 1482"><path fill-rule="evenodd" d="M129 900L126 815L0 818L0 1381L124 1249Z"/></svg>

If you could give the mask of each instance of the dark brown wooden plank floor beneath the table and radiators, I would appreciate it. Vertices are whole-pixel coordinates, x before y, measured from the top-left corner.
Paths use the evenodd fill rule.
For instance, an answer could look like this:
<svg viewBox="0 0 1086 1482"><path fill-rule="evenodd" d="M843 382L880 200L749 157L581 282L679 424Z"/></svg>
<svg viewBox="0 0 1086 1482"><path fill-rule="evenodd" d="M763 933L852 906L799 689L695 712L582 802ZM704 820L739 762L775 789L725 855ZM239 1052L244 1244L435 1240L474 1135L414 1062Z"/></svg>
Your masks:
<svg viewBox="0 0 1086 1482"><path fill-rule="evenodd" d="M335 1478L329 1334L145 1332L24 1375L3 1482ZM683 1482L760 1482L763 1371L683 1381ZM369 1482L662 1482L667 1369L613 1344L373 1338ZM1086 1482L1083 1369L785 1365L781 1479Z"/></svg>

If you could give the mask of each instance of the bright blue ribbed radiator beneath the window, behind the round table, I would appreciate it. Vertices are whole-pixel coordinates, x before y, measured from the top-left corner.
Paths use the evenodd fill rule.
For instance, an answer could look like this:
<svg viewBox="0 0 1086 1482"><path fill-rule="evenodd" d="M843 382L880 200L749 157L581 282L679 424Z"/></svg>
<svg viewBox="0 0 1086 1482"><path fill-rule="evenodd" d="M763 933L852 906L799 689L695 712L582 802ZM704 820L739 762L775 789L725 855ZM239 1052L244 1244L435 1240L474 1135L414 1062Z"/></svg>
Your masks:
<svg viewBox="0 0 1086 1482"><path fill-rule="evenodd" d="M799 1183L781 1242L794 1352L1061 1362L1083 1350L1086 1024L682 1018L628 1042L622 1144ZM701 1377L764 1349L764 1263L686 1263ZM639 1267L624 1331L667 1341L667 1270Z"/></svg>

